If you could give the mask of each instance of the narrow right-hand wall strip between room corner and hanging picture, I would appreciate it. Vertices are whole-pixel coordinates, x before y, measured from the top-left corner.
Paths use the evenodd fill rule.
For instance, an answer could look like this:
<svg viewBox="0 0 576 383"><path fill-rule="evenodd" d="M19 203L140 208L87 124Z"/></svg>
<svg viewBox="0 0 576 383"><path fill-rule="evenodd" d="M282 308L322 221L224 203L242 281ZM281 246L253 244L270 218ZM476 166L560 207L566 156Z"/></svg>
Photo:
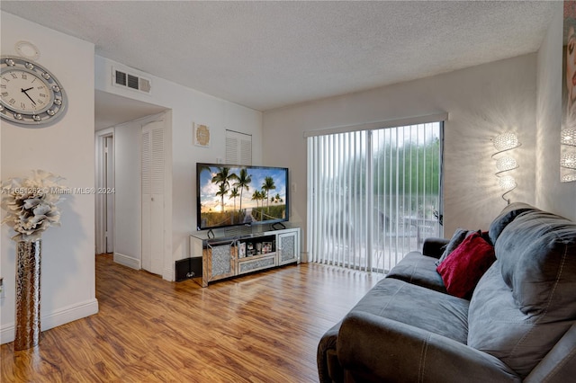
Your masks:
<svg viewBox="0 0 576 383"><path fill-rule="evenodd" d="M563 2L538 50L536 106L536 206L576 222L576 183L560 182Z"/></svg>

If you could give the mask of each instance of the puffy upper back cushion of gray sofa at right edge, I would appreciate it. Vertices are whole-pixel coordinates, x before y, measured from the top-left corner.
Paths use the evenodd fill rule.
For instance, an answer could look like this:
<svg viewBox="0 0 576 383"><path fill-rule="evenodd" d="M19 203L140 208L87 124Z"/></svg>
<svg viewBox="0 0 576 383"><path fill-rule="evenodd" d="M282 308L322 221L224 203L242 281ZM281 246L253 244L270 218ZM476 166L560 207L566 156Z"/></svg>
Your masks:
<svg viewBox="0 0 576 383"><path fill-rule="evenodd" d="M496 249L502 278L522 312L576 319L576 224L530 211L502 231Z"/></svg>

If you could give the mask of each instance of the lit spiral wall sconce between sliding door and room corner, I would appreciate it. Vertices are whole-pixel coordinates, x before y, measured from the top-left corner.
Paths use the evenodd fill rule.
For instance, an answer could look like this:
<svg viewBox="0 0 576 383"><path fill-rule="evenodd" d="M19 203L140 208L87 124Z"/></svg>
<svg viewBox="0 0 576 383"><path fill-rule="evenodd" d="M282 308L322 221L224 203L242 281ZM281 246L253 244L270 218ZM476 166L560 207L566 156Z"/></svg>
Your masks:
<svg viewBox="0 0 576 383"><path fill-rule="evenodd" d="M513 176L509 174L502 174L514 169L518 169L519 166L516 162L516 159L509 156L508 154L502 155L502 153L519 147L521 144L518 141L516 134L511 132L501 133L495 138L492 138L492 144L496 149L496 153L492 155L492 158L496 159L496 169L498 170L495 175L498 177L500 188L504 190L502 199L506 200L507 203L510 203L510 200L506 198L506 195L510 191L516 189L518 184L516 183L516 180L514 180Z"/></svg>

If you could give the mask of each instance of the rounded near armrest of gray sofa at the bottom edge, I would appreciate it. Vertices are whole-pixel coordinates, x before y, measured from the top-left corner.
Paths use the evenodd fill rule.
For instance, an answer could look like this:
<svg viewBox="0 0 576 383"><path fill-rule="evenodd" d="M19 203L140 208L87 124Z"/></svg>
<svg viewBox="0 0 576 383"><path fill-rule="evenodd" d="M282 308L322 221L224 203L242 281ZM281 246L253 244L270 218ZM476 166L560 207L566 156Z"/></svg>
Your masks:
<svg viewBox="0 0 576 383"><path fill-rule="evenodd" d="M345 317L337 350L347 376L362 381L521 381L506 364L488 353L364 312Z"/></svg>

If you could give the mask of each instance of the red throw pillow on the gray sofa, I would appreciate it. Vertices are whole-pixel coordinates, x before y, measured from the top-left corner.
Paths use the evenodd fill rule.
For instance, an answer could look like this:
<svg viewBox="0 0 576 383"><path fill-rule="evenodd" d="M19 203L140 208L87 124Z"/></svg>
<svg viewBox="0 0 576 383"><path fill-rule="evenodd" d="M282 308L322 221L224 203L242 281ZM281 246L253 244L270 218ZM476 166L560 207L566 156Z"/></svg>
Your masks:
<svg viewBox="0 0 576 383"><path fill-rule="evenodd" d="M478 233L464 241L437 267L449 294L469 298L476 284L496 261L494 247Z"/></svg>

